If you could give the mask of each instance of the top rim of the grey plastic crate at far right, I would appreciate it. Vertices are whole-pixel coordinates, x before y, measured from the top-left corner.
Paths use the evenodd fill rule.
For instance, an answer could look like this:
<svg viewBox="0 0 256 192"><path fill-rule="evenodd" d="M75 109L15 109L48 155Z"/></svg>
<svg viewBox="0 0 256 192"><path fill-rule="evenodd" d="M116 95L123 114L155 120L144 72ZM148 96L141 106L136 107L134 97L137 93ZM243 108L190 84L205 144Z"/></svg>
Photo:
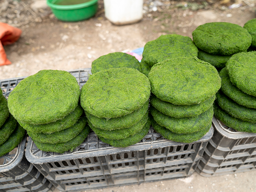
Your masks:
<svg viewBox="0 0 256 192"><path fill-rule="evenodd" d="M224 137L227 137L229 139L242 139L242 138L248 138L248 137L256 137L256 133L249 133L249 132L232 132L228 129L225 129L221 124L220 120L216 117L212 118L212 123L214 125L214 128Z"/></svg>

